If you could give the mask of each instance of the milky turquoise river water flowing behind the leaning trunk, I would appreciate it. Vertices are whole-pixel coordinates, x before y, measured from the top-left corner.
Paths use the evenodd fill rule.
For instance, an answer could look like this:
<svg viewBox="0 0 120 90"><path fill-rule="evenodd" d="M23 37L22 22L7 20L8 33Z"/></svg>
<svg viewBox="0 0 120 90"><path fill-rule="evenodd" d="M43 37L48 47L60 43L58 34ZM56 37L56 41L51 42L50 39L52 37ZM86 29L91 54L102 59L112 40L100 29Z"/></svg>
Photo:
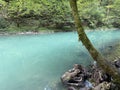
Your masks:
<svg viewBox="0 0 120 90"><path fill-rule="evenodd" d="M102 52L120 42L120 31L89 31ZM0 90L62 90L60 76L74 63L92 58L76 32L0 36Z"/></svg>

